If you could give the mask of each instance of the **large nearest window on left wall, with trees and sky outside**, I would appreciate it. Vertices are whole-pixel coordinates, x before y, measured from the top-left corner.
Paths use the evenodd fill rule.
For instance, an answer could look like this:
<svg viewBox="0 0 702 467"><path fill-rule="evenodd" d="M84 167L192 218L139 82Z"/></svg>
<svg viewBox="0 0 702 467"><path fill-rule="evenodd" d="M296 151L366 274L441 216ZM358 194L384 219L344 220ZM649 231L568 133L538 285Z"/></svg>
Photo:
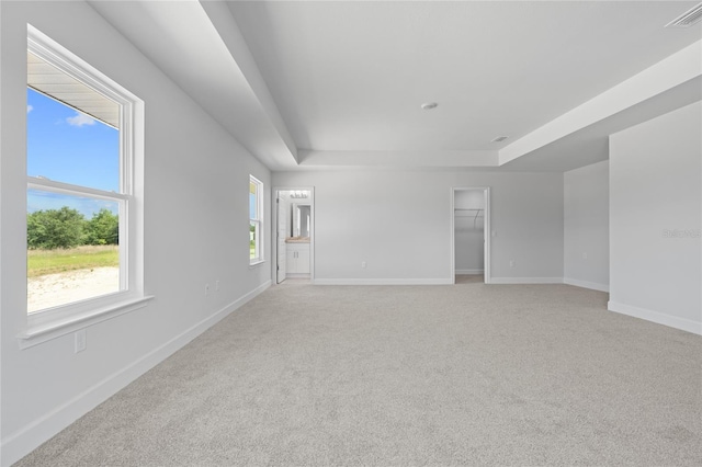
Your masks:
<svg viewBox="0 0 702 467"><path fill-rule="evenodd" d="M31 328L143 296L143 103L32 26L26 92Z"/></svg>

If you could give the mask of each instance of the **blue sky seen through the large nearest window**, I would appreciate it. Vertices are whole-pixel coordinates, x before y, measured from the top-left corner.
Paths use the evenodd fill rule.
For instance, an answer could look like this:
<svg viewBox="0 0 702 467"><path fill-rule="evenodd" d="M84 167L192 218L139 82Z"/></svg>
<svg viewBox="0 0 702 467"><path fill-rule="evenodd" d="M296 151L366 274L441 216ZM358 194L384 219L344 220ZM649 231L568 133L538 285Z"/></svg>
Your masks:
<svg viewBox="0 0 702 467"><path fill-rule="evenodd" d="M27 88L27 157L31 176L90 186L104 191L120 189L120 133L67 105ZM31 190L27 212L69 206L87 218L117 204Z"/></svg>

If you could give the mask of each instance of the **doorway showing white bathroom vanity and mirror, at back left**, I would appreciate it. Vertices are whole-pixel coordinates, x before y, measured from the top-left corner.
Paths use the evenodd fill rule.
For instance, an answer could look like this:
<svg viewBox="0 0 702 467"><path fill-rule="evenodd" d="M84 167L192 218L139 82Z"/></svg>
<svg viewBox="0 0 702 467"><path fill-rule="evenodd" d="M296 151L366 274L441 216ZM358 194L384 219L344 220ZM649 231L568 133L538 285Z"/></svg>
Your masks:
<svg viewBox="0 0 702 467"><path fill-rule="evenodd" d="M310 281L314 278L314 189L275 189L274 198L275 283Z"/></svg>

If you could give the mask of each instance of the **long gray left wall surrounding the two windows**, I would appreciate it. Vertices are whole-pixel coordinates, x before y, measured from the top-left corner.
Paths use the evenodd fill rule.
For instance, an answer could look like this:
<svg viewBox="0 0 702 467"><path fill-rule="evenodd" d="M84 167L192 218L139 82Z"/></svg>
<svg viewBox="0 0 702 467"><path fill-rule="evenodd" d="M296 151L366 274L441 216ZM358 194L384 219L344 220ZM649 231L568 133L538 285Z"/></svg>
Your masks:
<svg viewBox="0 0 702 467"><path fill-rule="evenodd" d="M270 262L249 269L249 174L267 193L271 184L267 168L86 3L1 8L1 410L8 465L265 287ZM16 339L26 328L27 23L146 105L145 288L156 298L88 328L88 348L79 354L72 334L25 350ZM270 212L268 196L265 206ZM216 280L219 291L205 296L205 283Z"/></svg>

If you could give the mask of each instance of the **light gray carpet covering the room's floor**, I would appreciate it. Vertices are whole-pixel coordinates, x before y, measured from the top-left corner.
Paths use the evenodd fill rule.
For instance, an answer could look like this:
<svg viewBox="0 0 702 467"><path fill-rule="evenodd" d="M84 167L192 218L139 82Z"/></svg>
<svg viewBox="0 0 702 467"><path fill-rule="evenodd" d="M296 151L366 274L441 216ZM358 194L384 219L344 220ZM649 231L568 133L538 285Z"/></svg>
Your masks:
<svg viewBox="0 0 702 467"><path fill-rule="evenodd" d="M605 304L274 286L19 465L702 465L702 339Z"/></svg>

